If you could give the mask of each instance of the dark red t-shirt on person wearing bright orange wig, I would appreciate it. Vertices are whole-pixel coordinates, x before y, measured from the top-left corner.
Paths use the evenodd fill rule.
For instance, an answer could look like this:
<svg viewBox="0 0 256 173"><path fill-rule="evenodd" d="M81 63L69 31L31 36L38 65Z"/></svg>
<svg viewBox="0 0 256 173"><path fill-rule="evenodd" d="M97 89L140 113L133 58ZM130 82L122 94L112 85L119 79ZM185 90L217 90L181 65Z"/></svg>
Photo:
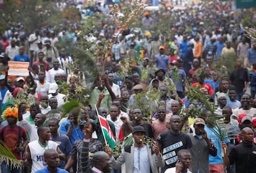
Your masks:
<svg viewBox="0 0 256 173"><path fill-rule="evenodd" d="M0 129L0 139L6 143L7 147L10 148L17 159L22 159L21 153L17 152L17 147L19 147L20 143L22 143L22 140L27 140L27 133L23 127L20 127L20 135L22 139L19 139L18 137L19 129L17 126L13 129L9 128L9 126L6 126L3 134L4 139L2 139L2 128Z"/></svg>

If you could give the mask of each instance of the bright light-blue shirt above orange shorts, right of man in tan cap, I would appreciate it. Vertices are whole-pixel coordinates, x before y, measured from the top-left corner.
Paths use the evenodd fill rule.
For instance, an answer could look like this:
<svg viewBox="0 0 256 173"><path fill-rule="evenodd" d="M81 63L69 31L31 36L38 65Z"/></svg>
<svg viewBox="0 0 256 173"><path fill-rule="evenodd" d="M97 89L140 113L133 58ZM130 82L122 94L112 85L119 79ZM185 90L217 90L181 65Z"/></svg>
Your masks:
<svg viewBox="0 0 256 173"><path fill-rule="evenodd" d="M205 132L207 132L208 138L217 148L217 155L215 157L209 155L209 164L223 164L223 159L221 156L221 139L211 129L214 129L216 132L218 132L218 128L216 126L213 128L205 126ZM229 143L229 140L224 140L224 142Z"/></svg>

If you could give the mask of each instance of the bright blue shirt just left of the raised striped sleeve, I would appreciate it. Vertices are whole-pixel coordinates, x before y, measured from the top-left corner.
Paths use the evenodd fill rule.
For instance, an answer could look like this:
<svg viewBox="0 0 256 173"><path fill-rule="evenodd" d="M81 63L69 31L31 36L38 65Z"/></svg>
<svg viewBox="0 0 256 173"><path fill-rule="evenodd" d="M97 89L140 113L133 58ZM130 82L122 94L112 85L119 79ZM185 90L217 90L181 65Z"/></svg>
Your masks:
<svg viewBox="0 0 256 173"><path fill-rule="evenodd" d="M61 124L61 129L59 130L59 132L65 135L67 131L69 131L69 127L70 127L70 120L67 120ZM77 127L74 126L69 138L71 145L73 146L75 140L79 140L79 139L83 139L83 132L81 131L79 126Z"/></svg>

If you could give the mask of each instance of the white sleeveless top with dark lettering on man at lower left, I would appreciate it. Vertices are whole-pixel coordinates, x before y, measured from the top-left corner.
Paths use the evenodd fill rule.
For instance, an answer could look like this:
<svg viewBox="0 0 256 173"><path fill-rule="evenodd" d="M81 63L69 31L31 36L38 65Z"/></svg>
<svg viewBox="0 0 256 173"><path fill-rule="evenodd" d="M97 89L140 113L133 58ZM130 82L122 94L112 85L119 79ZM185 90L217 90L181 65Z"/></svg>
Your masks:
<svg viewBox="0 0 256 173"><path fill-rule="evenodd" d="M30 149L30 155L32 159L31 173L35 173L37 170L43 169L44 167L47 166L47 164L45 163L45 159L43 157L43 153L45 153L45 150L48 150L48 149L57 150L58 143L49 140L48 145L45 148L43 148L38 143L38 140L35 140L33 142L28 143L28 147Z"/></svg>

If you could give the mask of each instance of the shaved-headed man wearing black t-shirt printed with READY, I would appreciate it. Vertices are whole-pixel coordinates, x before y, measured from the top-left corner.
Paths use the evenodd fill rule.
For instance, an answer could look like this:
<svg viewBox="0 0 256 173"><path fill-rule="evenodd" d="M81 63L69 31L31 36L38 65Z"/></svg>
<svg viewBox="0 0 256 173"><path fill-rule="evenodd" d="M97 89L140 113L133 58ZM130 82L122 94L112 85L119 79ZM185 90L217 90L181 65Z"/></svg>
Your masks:
<svg viewBox="0 0 256 173"><path fill-rule="evenodd" d="M161 133L157 137L158 148L165 159L165 166L161 169L163 173L166 169L175 167L177 163L177 152L181 149L192 147L189 135L181 132L182 119L179 115L173 115L169 122L169 131Z"/></svg>

